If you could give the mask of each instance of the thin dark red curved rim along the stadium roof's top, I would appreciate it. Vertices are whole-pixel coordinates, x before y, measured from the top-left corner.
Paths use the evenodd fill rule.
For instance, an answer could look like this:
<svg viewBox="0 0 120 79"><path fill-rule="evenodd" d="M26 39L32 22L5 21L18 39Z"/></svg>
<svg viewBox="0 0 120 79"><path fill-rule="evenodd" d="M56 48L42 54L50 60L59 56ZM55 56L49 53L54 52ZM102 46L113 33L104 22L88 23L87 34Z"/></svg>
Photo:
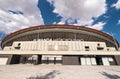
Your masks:
<svg viewBox="0 0 120 79"><path fill-rule="evenodd" d="M62 28L62 27L66 27L66 28L72 28L72 29L83 29L83 30L89 30L89 31L93 31L93 32L96 32L98 34L101 34L105 37L108 37L112 40L114 40L118 47L119 47L119 43L116 39L114 39L111 35L105 33L105 32L102 32L102 31L99 31L99 30L96 30L96 29L93 29L93 28L89 28L89 27L85 27L85 26L78 26L78 25L67 25L67 24L49 24L49 25L37 25L37 26L31 26L31 27L28 27L28 28L24 28L24 29L20 29L16 32L13 32L13 33L10 33L9 35L7 35L5 38L3 38L2 42L13 37L14 35L17 35L19 33L23 33L23 32L27 32L27 31L30 31L30 30L33 30L33 29L41 29L41 28L48 28L48 27L59 27L59 28ZM2 42L1 42L1 46L2 46Z"/></svg>

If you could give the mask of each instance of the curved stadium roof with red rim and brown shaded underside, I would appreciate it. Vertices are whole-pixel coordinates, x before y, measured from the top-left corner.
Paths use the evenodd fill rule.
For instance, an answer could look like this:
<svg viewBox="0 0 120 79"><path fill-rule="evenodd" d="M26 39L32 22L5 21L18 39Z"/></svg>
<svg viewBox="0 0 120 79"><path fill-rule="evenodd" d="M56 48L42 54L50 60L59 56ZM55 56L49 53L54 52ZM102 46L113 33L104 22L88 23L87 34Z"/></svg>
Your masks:
<svg viewBox="0 0 120 79"><path fill-rule="evenodd" d="M35 39L82 40L105 42L108 47L118 49L117 41L110 35L84 26L42 25L11 33L2 41L1 47L11 46L13 41L33 41Z"/></svg>

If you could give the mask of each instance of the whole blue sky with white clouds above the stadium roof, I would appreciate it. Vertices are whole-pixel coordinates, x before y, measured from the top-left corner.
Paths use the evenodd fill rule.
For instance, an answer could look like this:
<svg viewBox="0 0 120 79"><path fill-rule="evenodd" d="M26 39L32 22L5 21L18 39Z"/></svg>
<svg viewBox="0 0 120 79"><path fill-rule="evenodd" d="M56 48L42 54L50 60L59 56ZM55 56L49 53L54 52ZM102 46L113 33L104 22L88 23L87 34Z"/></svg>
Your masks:
<svg viewBox="0 0 120 79"><path fill-rule="evenodd" d="M47 24L97 29L120 43L120 0L0 0L0 41L17 30Z"/></svg>

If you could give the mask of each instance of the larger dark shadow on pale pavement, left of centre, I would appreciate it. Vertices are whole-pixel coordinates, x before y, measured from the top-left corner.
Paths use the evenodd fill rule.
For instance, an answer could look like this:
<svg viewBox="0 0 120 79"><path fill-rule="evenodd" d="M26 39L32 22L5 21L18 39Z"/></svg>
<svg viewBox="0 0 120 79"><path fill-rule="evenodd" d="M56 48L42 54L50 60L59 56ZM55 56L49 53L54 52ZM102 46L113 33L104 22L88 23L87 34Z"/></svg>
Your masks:
<svg viewBox="0 0 120 79"><path fill-rule="evenodd" d="M45 75L43 75L43 76L39 76L39 75L36 76L36 77L31 76L31 77L26 78L26 79L53 79L53 78L55 78L55 76L58 75L58 74L60 74L59 71L53 70L52 72L49 72L49 73L47 73L47 74L45 74Z"/></svg>

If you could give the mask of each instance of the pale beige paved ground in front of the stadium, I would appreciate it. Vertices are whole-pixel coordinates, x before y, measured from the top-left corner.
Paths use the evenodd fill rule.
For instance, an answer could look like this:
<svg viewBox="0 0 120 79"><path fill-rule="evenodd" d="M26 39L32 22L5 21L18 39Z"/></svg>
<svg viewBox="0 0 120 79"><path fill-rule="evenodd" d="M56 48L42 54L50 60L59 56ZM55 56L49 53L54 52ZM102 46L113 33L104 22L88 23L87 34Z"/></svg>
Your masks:
<svg viewBox="0 0 120 79"><path fill-rule="evenodd" d="M120 66L6 65L0 79L120 79Z"/></svg>

